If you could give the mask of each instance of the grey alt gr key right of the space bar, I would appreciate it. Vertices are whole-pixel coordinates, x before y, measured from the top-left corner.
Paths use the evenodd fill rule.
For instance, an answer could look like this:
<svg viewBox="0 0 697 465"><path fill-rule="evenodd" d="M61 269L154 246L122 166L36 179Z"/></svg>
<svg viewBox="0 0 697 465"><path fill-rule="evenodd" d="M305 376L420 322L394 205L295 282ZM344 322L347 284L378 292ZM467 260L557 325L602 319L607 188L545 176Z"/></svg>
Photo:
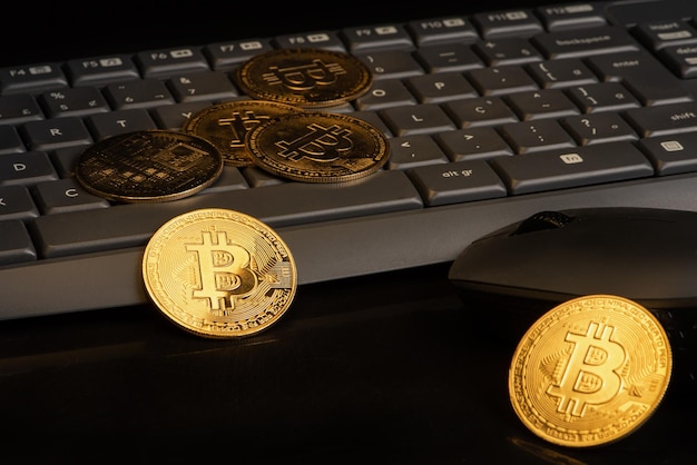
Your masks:
<svg viewBox="0 0 697 465"><path fill-rule="evenodd" d="M428 206L505 197L505 186L483 160L411 168L409 177Z"/></svg>

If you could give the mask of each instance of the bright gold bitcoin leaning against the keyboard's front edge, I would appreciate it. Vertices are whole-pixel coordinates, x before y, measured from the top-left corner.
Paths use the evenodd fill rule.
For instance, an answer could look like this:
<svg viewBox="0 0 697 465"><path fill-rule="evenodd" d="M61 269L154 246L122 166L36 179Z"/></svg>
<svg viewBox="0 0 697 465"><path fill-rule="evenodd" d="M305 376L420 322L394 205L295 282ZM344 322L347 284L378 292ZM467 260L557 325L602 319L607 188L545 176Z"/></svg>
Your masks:
<svg viewBox="0 0 697 465"><path fill-rule="evenodd" d="M264 222L200 209L164 224L148 241L143 277L151 300L179 327L235 338L275 324L295 296L295 260Z"/></svg>

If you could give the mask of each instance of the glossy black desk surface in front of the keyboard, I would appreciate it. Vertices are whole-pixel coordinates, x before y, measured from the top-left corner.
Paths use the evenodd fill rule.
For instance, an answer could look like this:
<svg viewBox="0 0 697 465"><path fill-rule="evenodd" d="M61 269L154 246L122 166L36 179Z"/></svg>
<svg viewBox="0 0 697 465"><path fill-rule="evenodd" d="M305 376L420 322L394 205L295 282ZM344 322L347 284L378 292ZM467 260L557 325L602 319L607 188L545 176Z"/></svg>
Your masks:
<svg viewBox="0 0 697 465"><path fill-rule="evenodd" d="M190 335L150 306L1 321L0 461L695 463L696 398L670 390L615 444L537 438L509 402L514 347L473 323L446 271L301 287L244 340Z"/></svg>

